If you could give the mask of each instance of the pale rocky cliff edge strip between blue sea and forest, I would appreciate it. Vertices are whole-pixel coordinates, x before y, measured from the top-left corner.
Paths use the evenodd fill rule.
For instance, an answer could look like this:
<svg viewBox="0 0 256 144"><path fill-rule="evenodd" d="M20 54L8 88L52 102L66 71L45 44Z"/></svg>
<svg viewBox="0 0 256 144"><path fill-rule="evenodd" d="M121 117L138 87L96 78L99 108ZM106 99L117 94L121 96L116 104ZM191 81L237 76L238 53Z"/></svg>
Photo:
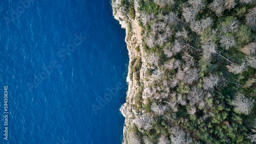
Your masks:
<svg viewBox="0 0 256 144"><path fill-rule="evenodd" d="M133 78L131 78L129 76L129 74L131 74L132 68L131 68L131 63L132 60L140 57L141 61L142 61L142 65L140 68L140 81L143 80L143 71L145 70L145 62L146 62L146 57L145 57L145 52L143 50L142 47L142 37L141 37L141 31L142 28L139 26L139 22L136 19L131 20L132 18L129 16L129 14L127 14L125 11L122 11L122 9L119 9L118 5L120 5L121 1L120 0L116 0L115 2L112 2L112 8L113 8L113 16L116 20L119 21L121 28L125 29L125 42L126 42L126 46L127 46L127 50L129 52L129 67L128 67L128 75L126 78L126 82L128 83L128 90L126 92L126 102L121 106L120 111L122 113L122 115L125 117L125 124L123 127L123 141L122 143L124 143L125 137L130 135L130 132L127 131L127 127L132 127L132 123L131 120L133 119L133 117L137 116L138 112L132 107L132 105L134 104L134 101L132 101L132 99L134 99L135 94L138 92L139 89L139 85L137 84L137 80ZM136 1L135 1L136 3ZM136 4L134 5L136 6ZM138 5L137 7L135 7L135 14L139 15L138 13ZM127 27L129 27L129 25L131 25L132 27L132 31L129 31L129 29ZM140 51L137 52L135 49L136 47L139 46L140 47Z"/></svg>

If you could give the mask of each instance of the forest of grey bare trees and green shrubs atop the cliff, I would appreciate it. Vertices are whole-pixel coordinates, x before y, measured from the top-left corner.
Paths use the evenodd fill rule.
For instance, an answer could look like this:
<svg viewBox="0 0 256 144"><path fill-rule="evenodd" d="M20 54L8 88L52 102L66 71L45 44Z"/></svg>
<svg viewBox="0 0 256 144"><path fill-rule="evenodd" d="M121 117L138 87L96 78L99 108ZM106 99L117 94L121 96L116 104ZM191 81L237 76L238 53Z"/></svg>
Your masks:
<svg viewBox="0 0 256 144"><path fill-rule="evenodd" d="M256 1L121 0L119 9L126 41L137 20L135 50L146 54L129 66L138 86L124 143L256 142Z"/></svg>

